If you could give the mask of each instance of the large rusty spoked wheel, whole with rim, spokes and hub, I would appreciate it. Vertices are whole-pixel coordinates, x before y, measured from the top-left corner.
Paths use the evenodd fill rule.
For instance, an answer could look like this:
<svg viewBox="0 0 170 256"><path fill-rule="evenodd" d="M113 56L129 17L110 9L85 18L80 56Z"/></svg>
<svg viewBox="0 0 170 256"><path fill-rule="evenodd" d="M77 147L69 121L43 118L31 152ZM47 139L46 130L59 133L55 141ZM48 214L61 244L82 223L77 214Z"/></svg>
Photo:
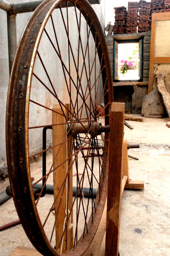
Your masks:
<svg viewBox="0 0 170 256"><path fill-rule="evenodd" d="M16 52L6 138L15 206L45 256L83 255L98 228L107 195L112 86L104 34L90 4L44 1ZM54 195L45 194L48 186Z"/></svg>

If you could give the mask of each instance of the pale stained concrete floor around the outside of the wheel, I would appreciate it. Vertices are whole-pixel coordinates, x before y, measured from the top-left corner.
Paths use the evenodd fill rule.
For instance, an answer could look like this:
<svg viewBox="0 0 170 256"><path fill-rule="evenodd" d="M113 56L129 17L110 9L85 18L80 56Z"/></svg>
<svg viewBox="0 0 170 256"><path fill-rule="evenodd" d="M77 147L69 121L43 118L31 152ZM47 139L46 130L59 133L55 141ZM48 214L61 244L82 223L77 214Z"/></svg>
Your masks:
<svg viewBox="0 0 170 256"><path fill-rule="evenodd" d="M132 115L139 116L139 115ZM139 143L130 149L129 177L144 180L144 190L125 190L122 196L120 221L120 256L170 255L170 128L167 118L145 118L143 122L128 121L124 138ZM0 192L8 186L1 181ZM0 226L17 220L12 199L0 206ZM0 256L9 256L17 246L32 247L21 225L0 231Z"/></svg>

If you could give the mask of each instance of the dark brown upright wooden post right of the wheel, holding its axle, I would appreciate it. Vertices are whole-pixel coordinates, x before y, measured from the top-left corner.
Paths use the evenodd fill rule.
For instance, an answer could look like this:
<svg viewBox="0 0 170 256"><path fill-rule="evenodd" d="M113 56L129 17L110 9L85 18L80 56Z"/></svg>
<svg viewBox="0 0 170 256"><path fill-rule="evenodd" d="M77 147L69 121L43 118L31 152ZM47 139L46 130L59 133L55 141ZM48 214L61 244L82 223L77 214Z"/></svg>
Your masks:
<svg viewBox="0 0 170 256"><path fill-rule="evenodd" d="M105 256L118 255L124 109L124 103L111 105Z"/></svg>

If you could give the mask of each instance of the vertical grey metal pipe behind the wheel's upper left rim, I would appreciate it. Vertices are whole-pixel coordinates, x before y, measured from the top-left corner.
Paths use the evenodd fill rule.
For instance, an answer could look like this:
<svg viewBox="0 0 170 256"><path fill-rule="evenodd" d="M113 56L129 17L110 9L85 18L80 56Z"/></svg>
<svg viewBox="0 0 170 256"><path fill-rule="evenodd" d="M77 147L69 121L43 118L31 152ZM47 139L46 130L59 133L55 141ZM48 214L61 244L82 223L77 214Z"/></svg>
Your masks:
<svg viewBox="0 0 170 256"><path fill-rule="evenodd" d="M9 57L9 74L12 70L12 65L17 49L17 29L16 16L8 15L7 13L7 29L8 29L8 57Z"/></svg>

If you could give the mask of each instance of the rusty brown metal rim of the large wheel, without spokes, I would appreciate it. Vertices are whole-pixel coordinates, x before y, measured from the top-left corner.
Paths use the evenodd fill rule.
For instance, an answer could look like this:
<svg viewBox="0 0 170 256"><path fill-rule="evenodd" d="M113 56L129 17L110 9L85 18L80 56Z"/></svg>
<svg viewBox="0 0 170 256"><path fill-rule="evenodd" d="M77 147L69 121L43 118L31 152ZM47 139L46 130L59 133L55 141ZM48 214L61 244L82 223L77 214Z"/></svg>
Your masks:
<svg viewBox="0 0 170 256"><path fill-rule="evenodd" d="M30 90L32 90L31 82L34 73L35 56L37 55L37 49L39 47L42 32L44 27L52 16L56 6L63 1L44 1L34 12L30 21L23 32L23 35L18 46L16 57L11 73L11 79L9 84L8 103L7 103L7 125L6 125L6 138L7 138L7 159L9 168L9 177L11 188L13 191L14 202L16 209L21 219L21 223L28 238L31 240L37 250L43 255L61 255L57 252L46 237L46 233L43 229L41 220L39 218L36 203L34 201L31 175L30 175L30 163L29 163L29 147L28 147L28 134L29 134L29 108L30 108ZM80 10L81 15L84 16L92 33L94 44L99 56L100 70L102 70L102 80L104 87L104 101L105 101L105 124L109 124L109 106L113 101L113 88L112 77L110 70L110 62L108 58L107 47L105 38L102 33L100 23L91 8L91 6L84 0L70 1L75 5L75 10ZM68 10L66 8L66 10ZM60 10L61 12L61 10ZM68 16L67 16L68 19ZM66 19L66 20L67 20ZM82 21L81 21L82 22ZM79 24L79 23L78 23ZM79 24L80 25L80 24ZM79 26L78 25L78 26ZM88 30L87 30L88 31ZM46 33L47 35L47 33ZM80 33L81 35L81 33ZM87 32L88 37L88 32ZM80 40L79 40L80 43ZM79 46L80 47L80 46ZM69 48L69 47L68 47ZM70 50L71 51L71 50ZM96 50L95 50L96 51ZM90 54L90 50L87 51ZM95 58L96 59L96 58ZM85 62L85 61L84 61ZM63 67L63 66L62 66ZM65 67L64 67L65 68ZM66 69L65 69L66 70ZM90 71L89 71L90 73ZM34 75L35 76L35 75ZM96 79L95 79L96 80ZM79 78L80 83L80 78ZM95 82L96 83L96 82ZM80 89L81 90L81 89ZM83 94L84 95L84 94ZM86 94L85 94L86 95ZM84 97L84 96L83 96ZM86 100L84 100L85 102ZM32 100L34 104L34 101ZM85 103L84 103L85 104ZM39 105L40 106L40 105ZM62 105L63 106L63 105ZM75 110L74 110L75 111ZM90 111L88 109L88 111ZM91 111L91 113L94 111ZM74 112L74 117L76 111ZM91 116L96 118L93 113ZM80 116L79 116L80 117ZM77 122L81 123L77 115ZM90 118L89 118L90 119ZM97 121L97 120L96 120ZM90 121L89 121L90 122ZM13 134L11 138L11 134ZM108 154L108 134L105 135L105 147L103 159L106 165ZM80 143L79 143L80 144ZM97 144L95 144L96 146ZM14 150L15 149L15 150ZM99 154L99 153L98 153ZM88 233L76 242L74 249L66 253L66 255L82 255L84 251L89 247L97 227L100 222L102 211L105 204L107 193L107 168L103 166L104 178L102 179L102 190L96 197L96 216L93 216L93 225L89 221ZM16 178L17 177L17 178ZM92 217L91 217L92 218ZM31 224L31 226L30 226ZM83 239L82 239L83 238ZM64 253L65 254L65 253ZM62 254L63 255L63 254Z"/></svg>

